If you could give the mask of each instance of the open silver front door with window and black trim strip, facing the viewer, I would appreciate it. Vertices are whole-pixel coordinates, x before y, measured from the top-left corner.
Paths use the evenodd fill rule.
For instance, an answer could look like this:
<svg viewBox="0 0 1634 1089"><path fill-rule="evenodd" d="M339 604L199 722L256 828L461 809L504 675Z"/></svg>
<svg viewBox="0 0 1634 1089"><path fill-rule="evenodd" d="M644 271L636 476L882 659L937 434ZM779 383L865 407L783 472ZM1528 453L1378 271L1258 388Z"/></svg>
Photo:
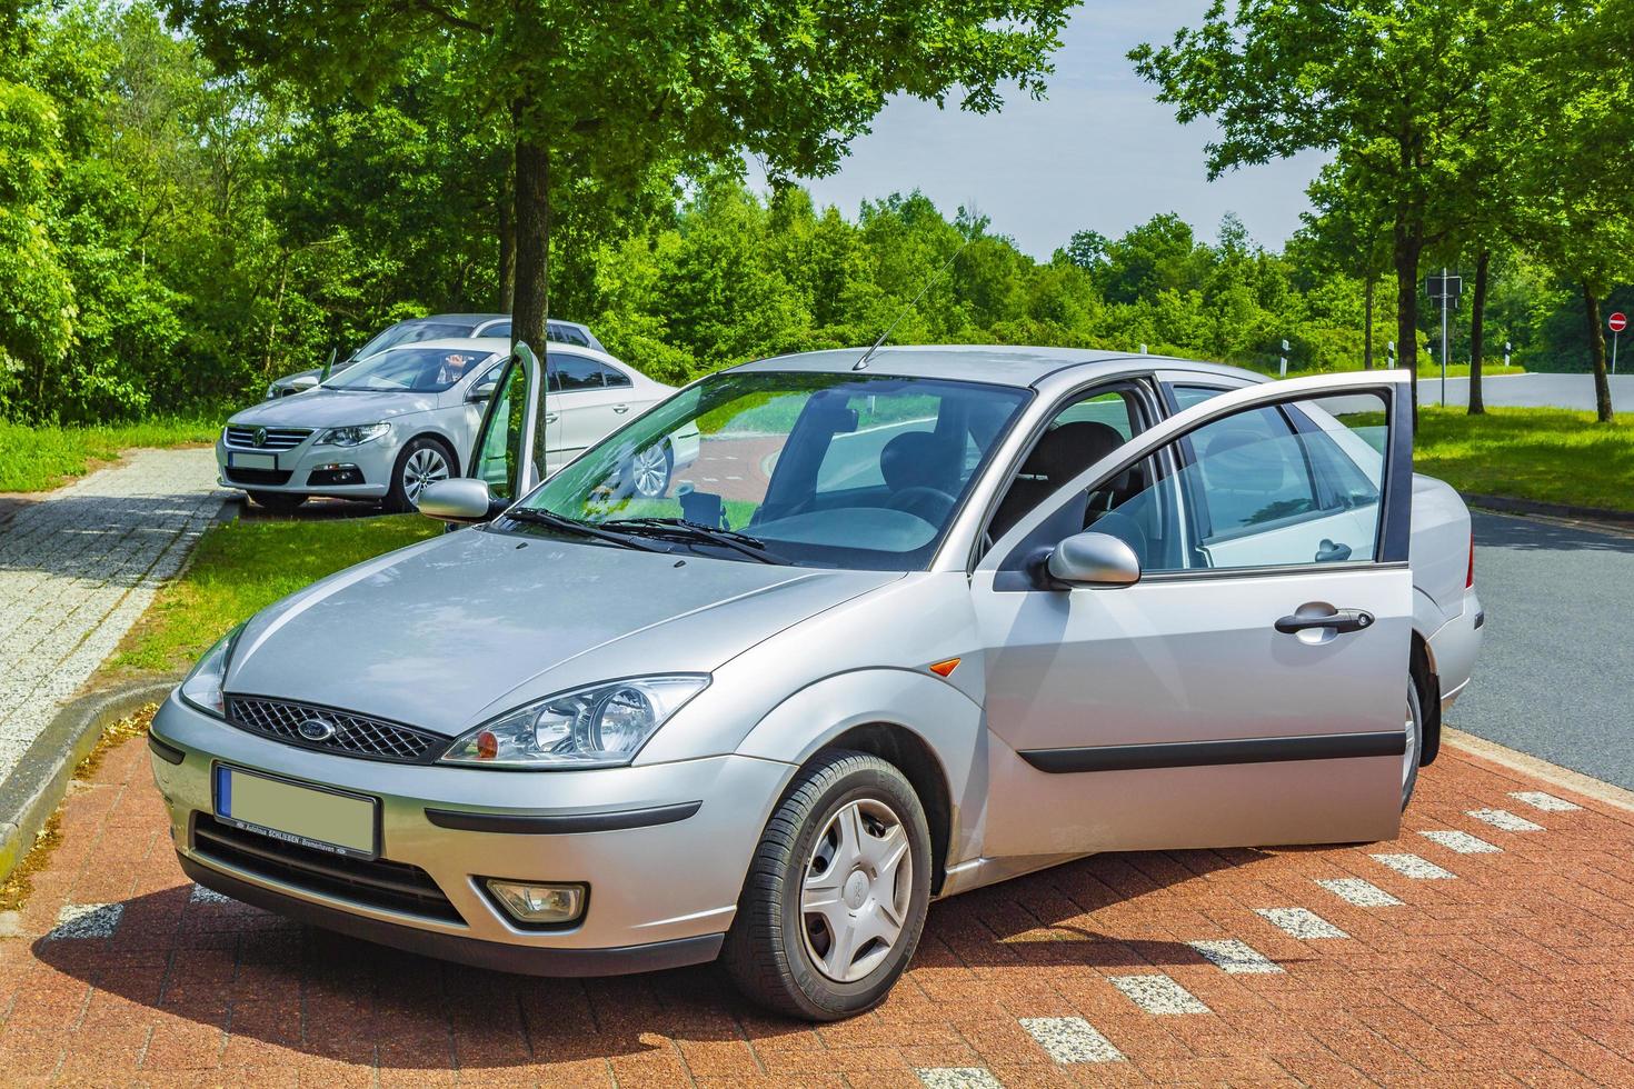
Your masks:
<svg viewBox="0 0 1634 1089"><path fill-rule="evenodd" d="M1310 483L1332 451L1312 454L1291 429L1245 434L1268 408L1338 393L1346 423L1335 426L1387 451L1350 464L1343 495ZM1412 487L1404 405L1395 376L1222 395L1127 442L995 542L972 576L989 728L1002 741L984 854L1395 833L1412 632L1409 527L1395 511ZM1221 434L1234 436L1219 449L1232 457L1211 465L1206 439ZM1141 460L1160 477L1109 511L1085 504ZM1373 475L1371 491L1356 473ZM1127 588L1049 588L1039 550L1025 547L1041 527L1119 536L1147 570ZM1319 558L1324 540L1350 542L1355 558ZM1340 611L1366 622L1276 627Z"/></svg>

